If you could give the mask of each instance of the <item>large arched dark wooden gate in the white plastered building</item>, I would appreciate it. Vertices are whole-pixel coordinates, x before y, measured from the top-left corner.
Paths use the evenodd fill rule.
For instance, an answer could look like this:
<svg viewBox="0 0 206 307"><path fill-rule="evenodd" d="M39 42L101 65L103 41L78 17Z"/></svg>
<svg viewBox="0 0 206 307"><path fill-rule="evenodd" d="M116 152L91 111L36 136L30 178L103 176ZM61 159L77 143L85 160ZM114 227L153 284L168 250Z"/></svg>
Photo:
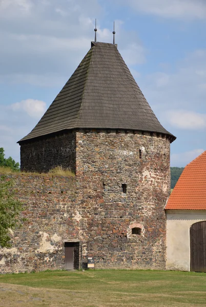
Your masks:
<svg viewBox="0 0 206 307"><path fill-rule="evenodd" d="M206 221L190 228L190 270L206 272Z"/></svg>

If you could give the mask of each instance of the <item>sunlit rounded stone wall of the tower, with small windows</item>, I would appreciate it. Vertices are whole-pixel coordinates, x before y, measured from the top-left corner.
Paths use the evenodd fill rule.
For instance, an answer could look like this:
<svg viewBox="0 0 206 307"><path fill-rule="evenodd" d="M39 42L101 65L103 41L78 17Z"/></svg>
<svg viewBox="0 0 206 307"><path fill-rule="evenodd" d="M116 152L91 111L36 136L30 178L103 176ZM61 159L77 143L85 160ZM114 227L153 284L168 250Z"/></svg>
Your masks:
<svg viewBox="0 0 206 307"><path fill-rule="evenodd" d="M170 141L91 130L77 132L76 146L83 263L92 256L96 268L165 269ZM141 234L132 234L133 227Z"/></svg>

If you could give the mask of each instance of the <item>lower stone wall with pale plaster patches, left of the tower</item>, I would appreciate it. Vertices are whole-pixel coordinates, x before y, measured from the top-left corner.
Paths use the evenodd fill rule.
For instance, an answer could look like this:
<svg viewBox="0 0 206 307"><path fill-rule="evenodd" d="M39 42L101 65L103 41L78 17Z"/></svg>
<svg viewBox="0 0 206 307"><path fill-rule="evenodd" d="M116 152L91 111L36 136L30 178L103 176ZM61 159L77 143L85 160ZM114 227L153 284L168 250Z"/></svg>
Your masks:
<svg viewBox="0 0 206 307"><path fill-rule="evenodd" d="M27 221L12 232L12 248L0 249L0 272L64 269L64 240L79 233L75 179L30 174L11 179Z"/></svg>

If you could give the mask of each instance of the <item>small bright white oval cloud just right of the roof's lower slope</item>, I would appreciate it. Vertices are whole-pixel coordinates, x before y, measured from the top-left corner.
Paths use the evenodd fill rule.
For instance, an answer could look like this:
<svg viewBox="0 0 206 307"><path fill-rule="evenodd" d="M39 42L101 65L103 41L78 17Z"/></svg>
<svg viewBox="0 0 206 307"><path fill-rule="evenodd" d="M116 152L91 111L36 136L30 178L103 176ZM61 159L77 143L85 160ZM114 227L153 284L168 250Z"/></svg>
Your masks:
<svg viewBox="0 0 206 307"><path fill-rule="evenodd" d="M166 112L169 123L180 129L202 129L206 127L206 114L186 111L171 110Z"/></svg>

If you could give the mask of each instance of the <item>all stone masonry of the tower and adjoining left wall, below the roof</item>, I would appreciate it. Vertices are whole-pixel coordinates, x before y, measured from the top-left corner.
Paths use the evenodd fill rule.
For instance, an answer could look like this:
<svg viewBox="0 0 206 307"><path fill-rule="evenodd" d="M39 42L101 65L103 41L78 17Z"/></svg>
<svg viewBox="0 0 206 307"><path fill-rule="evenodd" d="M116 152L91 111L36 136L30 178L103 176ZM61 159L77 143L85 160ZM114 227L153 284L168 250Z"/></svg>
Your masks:
<svg viewBox="0 0 206 307"><path fill-rule="evenodd" d="M79 242L83 267L92 256L95 268L165 269L166 136L79 130L21 147L23 169L49 170L58 153L58 165L73 165L76 177L8 177L15 179L27 221L13 233L13 247L0 250L0 272L64 269L64 240ZM132 234L134 227L141 234Z"/></svg>

